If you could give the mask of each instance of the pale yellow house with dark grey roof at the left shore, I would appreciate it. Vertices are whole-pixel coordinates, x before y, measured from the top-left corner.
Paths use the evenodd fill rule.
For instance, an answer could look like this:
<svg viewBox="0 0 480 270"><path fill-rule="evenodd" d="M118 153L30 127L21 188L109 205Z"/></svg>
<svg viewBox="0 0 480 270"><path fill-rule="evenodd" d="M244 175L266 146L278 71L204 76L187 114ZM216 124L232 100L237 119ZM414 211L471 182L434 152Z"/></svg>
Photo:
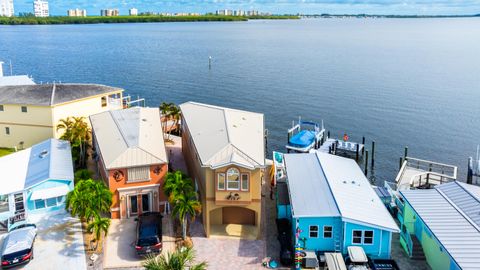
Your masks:
<svg viewBox="0 0 480 270"><path fill-rule="evenodd" d="M0 87L0 147L23 149L59 138L63 132L57 132L59 120L121 109L122 91L97 84Z"/></svg>

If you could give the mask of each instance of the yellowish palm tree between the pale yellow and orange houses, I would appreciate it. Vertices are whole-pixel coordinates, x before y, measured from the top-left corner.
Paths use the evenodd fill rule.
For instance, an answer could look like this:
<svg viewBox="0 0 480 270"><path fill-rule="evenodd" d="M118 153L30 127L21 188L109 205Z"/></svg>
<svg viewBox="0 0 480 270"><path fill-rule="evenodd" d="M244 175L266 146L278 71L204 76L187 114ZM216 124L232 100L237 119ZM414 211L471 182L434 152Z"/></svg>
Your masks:
<svg viewBox="0 0 480 270"><path fill-rule="evenodd" d="M57 125L57 131L63 130L60 137L70 142L72 146L72 156L79 167L86 165L87 148L90 141L90 127L85 121L85 117L67 117L61 119Z"/></svg>

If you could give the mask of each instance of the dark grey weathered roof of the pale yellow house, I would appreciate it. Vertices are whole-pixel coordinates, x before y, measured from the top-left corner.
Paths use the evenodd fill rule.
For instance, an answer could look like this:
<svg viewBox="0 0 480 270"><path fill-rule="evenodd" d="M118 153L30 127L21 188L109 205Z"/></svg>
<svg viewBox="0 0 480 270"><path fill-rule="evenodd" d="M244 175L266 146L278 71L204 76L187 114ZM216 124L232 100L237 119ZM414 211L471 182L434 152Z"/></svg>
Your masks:
<svg viewBox="0 0 480 270"><path fill-rule="evenodd" d="M35 84L0 86L0 104L52 106L91 96L123 91L100 84Z"/></svg>

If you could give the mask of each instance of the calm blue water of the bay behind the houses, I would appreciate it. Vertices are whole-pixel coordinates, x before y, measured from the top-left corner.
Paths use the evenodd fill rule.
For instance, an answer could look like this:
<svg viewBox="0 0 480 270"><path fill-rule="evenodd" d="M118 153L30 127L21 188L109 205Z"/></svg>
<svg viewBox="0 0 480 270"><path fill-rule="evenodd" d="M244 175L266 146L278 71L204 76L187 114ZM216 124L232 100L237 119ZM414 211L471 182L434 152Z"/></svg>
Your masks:
<svg viewBox="0 0 480 270"><path fill-rule="evenodd" d="M213 57L208 69L208 56ZM480 143L480 19L0 26L0 59L37 82L265 113L269 150L301 115L377 142L375 179L409 154L460 167ZM205 119L208 121L208 119Z"/></svg>

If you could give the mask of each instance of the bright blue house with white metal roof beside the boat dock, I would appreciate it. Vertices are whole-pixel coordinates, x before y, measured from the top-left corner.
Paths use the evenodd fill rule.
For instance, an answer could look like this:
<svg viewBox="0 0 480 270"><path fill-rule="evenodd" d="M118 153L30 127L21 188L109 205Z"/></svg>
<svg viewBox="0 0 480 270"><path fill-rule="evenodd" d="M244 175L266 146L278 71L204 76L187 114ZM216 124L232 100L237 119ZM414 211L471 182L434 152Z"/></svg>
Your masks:
<svg viewBox="0 0 480 270"><path fill-rule="evenodd" d="M361 246L372 258L390 258L399 229L355 161L320 152L284 159L290 207L277 210L290 213L301 247L347 255Z"/></svg>

